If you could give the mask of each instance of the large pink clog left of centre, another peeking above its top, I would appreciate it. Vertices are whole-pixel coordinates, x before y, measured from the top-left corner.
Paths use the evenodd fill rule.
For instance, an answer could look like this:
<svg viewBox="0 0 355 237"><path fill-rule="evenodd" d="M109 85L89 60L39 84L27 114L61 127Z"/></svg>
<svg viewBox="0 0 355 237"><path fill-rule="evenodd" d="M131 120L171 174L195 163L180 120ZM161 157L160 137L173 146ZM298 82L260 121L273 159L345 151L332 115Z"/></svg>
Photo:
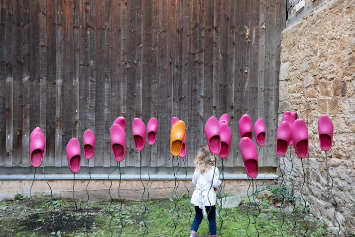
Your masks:
<svg viewBox="0 0 355 237"><path fill-rule="evenodd" d="M113 124L110 129L111 147L115 161L123 161L126 153L126 135L121 126Z"/></svg>

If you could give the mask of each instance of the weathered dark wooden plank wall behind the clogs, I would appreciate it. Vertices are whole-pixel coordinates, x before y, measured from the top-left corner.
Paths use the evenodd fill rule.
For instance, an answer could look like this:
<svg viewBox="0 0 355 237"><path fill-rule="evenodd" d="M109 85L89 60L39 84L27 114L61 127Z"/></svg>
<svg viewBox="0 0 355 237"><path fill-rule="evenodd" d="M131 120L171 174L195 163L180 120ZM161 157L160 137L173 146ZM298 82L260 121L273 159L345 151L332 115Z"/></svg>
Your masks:
<svg viewBox="0 0 355 237"><path fill-rule="evenodd" d="M229 113L242 166L238 120L264 118L260 166L275 157L284 0L0 0L0 166L29 165L29 134L46 137L46 166L67 166L65 147L96 135L93 166L116 165L110 127L127 120L123 166L139 166L131 122L158 119L158 142L143 151L171 166L170 119L188 126L188 159L210 116ZM82 164L86 161L82 159Z"/></svg>

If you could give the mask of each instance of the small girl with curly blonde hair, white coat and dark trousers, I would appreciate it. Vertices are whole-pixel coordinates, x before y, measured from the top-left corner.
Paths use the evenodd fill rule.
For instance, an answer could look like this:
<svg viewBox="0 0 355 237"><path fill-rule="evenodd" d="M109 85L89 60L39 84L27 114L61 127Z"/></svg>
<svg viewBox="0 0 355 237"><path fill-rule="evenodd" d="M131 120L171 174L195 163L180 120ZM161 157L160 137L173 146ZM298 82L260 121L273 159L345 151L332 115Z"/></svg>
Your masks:
<svg viewBox="0 0 355 237"><path fill-rule="evenodd" d="M196 237L196 232L204 218L208 214L211 237L216 237L216 192L221 186L220 172L215 169L215 157L208 146L204 146L195 158L195 173L192 184L196 189L191 197L191 203L195 205L195 220L192 223L190 237ZM213 183L212 183L213 182Z"/></svg>

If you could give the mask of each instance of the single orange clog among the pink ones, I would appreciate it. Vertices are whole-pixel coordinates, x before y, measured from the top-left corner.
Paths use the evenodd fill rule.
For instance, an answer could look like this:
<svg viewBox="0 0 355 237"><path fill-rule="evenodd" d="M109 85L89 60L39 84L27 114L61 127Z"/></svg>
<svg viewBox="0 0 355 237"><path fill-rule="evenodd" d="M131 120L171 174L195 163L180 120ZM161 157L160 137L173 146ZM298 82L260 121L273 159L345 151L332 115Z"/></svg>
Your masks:
<svg viewBox="0 0 355 237"><path fill-rule="evenodd" d="M170 132L170 152L173 156L179 156L184 143L186 125L182 120L177 121Z"/></svg>

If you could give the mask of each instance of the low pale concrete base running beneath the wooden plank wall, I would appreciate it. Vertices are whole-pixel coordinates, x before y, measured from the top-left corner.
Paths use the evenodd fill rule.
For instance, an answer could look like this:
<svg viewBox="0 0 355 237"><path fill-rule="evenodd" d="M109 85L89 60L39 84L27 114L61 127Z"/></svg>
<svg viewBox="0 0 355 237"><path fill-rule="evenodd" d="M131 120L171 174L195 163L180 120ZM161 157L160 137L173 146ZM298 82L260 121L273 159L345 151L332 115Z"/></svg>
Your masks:
<svg viewBox="0 0 355 237"><path fill-rule="evenodd" d="M265 180L265 185L271 184L272 180ZM58 199L72 199L72 180L48 180L53 196ZM78 201L86 201L87 195L85 192L88 180L75 181L75 199ZM111 195L114 199L118 199L118 180L112 180ZM147 181L143 180L144 185ZM258 180L258 185L261 185L262 180ZM0 181L0 199L13 198L15 194L23 194L29 196L29 189L32 180L1 180ZM109 180L91 180L88 191L90 194L90 201L109 201ZM152 180L149 182L149 199L169 198L173 187L174 180ZM186 186L190 191L190 197L195 187L192 181L186 181ZM226 180L225 193L228 195L240 195L246 197L246 190L249 186L248 180ZM120 196L123 200L139 201L143 193L143 187L140 180L122 180L120 185ZM179 180L177 189L178 195L187 194L184 187L184 181ZM48 197L50 196L50 189L44 180L35 180L32 187L32 197Z"/></svg>

